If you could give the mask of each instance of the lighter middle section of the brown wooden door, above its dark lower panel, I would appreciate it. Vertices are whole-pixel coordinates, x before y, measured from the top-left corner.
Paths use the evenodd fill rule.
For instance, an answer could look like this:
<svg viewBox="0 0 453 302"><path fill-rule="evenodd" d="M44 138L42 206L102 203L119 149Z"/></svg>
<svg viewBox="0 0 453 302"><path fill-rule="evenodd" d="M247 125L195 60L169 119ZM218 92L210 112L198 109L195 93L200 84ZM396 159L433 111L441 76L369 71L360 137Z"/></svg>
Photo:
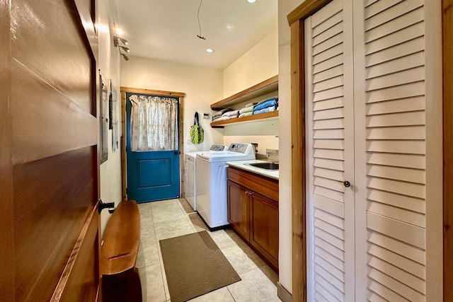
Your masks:
<svg viewBox="0 0 453 302"><path fill-rule="evenodd" d="M98 122L91 110L80 108L71 95L62 95L22 64L12 66L15 164L96 145Z"/></svg>

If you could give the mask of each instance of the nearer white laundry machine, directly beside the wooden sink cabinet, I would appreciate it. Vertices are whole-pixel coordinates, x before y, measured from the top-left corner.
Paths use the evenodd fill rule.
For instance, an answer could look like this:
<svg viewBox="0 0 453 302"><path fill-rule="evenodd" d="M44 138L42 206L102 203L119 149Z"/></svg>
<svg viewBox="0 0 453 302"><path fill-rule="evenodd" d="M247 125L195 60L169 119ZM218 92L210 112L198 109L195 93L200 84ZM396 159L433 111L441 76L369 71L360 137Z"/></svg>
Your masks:
<svg viewBox="0 0 453 302"><path fill-rule="evenodd" d="M197 153L195 160L197 211L210 229L228 224L226 162L251 159L255 159L255 148L252 144L231 143L224 152Z"/></svg>

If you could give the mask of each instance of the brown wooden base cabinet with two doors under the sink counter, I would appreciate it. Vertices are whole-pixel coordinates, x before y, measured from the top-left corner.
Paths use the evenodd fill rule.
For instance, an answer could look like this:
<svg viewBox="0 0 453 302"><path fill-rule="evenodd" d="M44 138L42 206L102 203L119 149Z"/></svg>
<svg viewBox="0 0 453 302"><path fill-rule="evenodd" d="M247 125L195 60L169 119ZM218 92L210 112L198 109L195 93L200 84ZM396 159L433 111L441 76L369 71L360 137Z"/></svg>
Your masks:
<svg viewBox="0 0 453 302"><path fill-rule="evenodd" d="M236 233L278 270L278 181L229 167L228 221Z"/></svg>

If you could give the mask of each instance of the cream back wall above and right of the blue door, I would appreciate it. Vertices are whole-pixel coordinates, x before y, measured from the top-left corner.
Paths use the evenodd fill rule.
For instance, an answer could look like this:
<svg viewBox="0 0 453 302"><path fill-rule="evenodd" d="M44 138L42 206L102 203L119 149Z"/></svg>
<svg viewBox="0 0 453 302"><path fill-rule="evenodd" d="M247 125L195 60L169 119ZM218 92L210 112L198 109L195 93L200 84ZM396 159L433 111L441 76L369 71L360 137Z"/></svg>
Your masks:
<svg viewBox="0 0 453 302"><path fill-rule="evenodd" d="M206 150L212 144L223 144L222 134L213 132L210 127L211 119L202 119L204 112L211 114L210 104L222 99L221 70L130 57L129 61L121 62L121 86L185 93L184 152ZM205 141L200 145L188 144L195 111L200 115L200 124L205 130Z"/></svg>

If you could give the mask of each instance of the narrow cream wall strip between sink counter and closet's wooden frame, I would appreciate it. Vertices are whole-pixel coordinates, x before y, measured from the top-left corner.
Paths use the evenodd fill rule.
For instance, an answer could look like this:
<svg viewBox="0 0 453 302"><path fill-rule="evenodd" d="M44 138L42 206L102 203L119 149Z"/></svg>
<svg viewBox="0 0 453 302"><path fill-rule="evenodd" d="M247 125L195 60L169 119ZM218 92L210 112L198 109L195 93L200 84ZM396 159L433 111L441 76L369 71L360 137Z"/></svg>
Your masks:
<svg viewBox="0 0 453 302"><path fill-rule="evenodd" d="M287 15L301 0L278 1L278 99L280 102L279 281L292 293L291 244L291 31Z"/></svg>

